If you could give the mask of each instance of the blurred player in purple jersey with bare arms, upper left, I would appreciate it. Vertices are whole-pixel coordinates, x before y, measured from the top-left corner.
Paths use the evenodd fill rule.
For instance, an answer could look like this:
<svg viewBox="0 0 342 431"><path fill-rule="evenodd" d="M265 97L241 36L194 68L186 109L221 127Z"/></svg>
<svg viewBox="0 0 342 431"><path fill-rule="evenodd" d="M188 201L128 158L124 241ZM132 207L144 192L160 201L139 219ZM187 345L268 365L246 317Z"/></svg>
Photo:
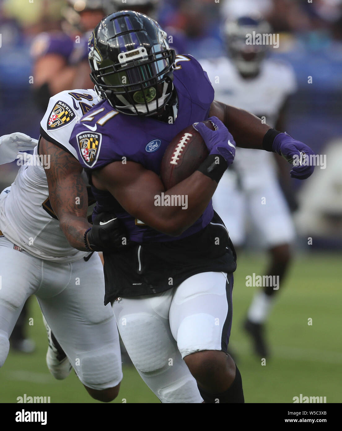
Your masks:
<svg viewBox="0 0 342 431"><path fill-rule="evenodd" d="M70 88L93 88L87 43L96 24L114 12L113 0L68 0L60 31L43 32L33 41L34 94L41 110L54 94Z"/></svg>

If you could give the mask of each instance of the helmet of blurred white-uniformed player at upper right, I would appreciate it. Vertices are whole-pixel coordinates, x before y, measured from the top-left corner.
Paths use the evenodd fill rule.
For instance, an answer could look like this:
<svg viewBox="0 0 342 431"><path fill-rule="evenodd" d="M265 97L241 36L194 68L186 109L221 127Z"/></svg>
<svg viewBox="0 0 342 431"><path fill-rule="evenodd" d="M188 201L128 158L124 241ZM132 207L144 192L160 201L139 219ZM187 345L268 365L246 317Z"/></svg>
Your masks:
<svg viewBox="0 0 342 431"><path fill-rule="evenodd" d="M258 73L262 60L268 52L266 45L247 45L246 35L270 33L271 27L260 15L240 16L228 20L224 26L224 36L228 52L236 68L242 75Z"/></svg>

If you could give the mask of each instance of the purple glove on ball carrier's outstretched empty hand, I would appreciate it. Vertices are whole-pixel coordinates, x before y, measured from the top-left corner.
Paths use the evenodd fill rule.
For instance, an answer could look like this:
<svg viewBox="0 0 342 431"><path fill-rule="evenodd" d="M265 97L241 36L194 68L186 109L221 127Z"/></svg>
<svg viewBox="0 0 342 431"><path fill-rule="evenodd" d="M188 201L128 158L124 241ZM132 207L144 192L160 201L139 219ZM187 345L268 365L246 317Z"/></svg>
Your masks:
<svg viewBox="0 0 342 431"><path fill-rule="evenodd" d="M314 156L315 153L303 142L296 141L286 133L280 133L274 138L272 147L275 153L293 164L290 171L292 178L305 180L314 172L314 166L310 165L310 155Z"/></svg>

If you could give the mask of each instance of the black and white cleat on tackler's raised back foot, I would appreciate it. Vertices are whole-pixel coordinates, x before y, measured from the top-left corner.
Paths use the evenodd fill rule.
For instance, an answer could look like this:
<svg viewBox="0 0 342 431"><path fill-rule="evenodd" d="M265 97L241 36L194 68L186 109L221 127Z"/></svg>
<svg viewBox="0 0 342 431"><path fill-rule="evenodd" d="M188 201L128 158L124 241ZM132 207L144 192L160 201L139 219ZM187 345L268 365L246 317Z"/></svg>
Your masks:
<svg viewBox="0 0 342 431"><path fill-rule="evenodd" d="M70 374L72 365L69 362L64 350L59 345L56 337L53 335L50 326L47 324L43 316L43 322L47 330L47 338L49 340L49 347L47 348L47 368L54 378L63 380Z"/></svg>

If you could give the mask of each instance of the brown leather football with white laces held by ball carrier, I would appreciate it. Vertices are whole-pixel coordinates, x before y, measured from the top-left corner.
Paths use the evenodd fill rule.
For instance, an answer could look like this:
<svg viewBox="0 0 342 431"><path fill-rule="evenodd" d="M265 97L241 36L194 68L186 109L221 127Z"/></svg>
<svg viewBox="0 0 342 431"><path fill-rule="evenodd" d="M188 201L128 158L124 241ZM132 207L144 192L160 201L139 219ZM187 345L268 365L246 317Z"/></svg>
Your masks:
<svg viewBox="0 0 342 431"><path fill-rule="evenodd" d="M209 120L204 124L214 130ZM160 176L166 190L188 178L208 157L208 149L199 132L190 125L178 133L165 150Z"/></svg>

